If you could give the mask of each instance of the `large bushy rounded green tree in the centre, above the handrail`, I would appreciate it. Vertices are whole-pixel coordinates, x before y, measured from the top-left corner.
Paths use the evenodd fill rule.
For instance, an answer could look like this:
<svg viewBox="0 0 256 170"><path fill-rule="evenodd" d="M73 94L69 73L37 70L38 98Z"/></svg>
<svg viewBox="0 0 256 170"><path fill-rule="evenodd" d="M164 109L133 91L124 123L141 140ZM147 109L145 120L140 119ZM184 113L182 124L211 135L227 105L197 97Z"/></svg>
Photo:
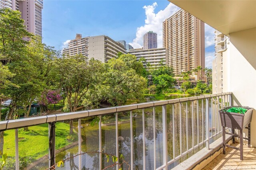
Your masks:
<svg viewBox="0 0 256 170"><path fill-rule="evenodd" d="M105 63L102 84L98 84L92 93L93 103L97 100L110 102L112 106L121 106L128 99L144 98L142 90L146 88L146 78L141 75L142 63L133 55L121 55L118 59L110 59ZM88 98L86 98L86 101ZM83 102L86 104L85 102Z"/></svg>

